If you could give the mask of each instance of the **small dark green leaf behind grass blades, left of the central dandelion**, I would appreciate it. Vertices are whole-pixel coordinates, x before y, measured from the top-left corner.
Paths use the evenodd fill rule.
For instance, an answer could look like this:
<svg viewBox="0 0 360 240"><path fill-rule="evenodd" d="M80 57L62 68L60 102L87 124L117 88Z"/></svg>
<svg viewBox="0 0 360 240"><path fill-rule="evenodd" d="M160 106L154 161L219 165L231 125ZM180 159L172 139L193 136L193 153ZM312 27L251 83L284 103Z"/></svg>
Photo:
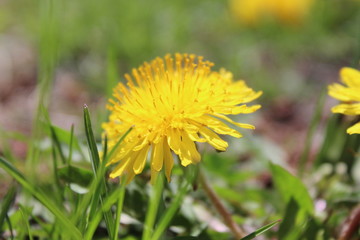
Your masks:
<svg viewBox="0 0 360 240"><path fill-rule="evenodd" d="M93 173L90 170L72 165L58 168L58 174L61 180L82 187L88 187L93 180Z"/></svg>

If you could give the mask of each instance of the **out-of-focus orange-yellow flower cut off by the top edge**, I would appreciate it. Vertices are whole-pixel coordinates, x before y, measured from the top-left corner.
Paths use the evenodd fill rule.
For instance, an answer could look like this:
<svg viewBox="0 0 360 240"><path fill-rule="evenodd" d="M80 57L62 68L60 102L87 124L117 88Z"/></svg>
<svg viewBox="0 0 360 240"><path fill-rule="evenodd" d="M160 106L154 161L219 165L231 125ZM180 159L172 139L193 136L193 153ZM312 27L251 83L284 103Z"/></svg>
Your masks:
<svg viewBox="0 0 360 240"><path fill-rule="evenodd" d="M296 25L310 12L314 0L230 0L233 15L247 25L269 18Z"/></svg>

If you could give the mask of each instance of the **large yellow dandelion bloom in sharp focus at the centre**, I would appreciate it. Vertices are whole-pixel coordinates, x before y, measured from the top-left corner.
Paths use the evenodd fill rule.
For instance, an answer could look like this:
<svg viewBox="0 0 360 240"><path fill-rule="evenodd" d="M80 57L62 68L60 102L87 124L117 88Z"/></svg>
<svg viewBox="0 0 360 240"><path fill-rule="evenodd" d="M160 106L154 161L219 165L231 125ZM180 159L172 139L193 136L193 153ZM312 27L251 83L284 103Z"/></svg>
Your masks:
<svg viewBox="0 0 360 240"><path fill-rule="evenodd" d="M148 155L152 180L164 168L170 181L173 154L183 166L200 161L195 142L207 142L219 151L228 143L218 134L240 138L242 135L224 122L237 123L226 115L252 113L260 105L246 103L262 93L249 88L244 81L233 82L230 72L211 71L213 63L195 55L176 54L145 62L125 75L127 86L114 88L109 100L109 121L103 124L109 147L116 144L130 127L133 130L121 143L109 164L117 164L111 178L127 175L130 181L143 171ZM149 154L150 153L150 154Z"/></svg>

